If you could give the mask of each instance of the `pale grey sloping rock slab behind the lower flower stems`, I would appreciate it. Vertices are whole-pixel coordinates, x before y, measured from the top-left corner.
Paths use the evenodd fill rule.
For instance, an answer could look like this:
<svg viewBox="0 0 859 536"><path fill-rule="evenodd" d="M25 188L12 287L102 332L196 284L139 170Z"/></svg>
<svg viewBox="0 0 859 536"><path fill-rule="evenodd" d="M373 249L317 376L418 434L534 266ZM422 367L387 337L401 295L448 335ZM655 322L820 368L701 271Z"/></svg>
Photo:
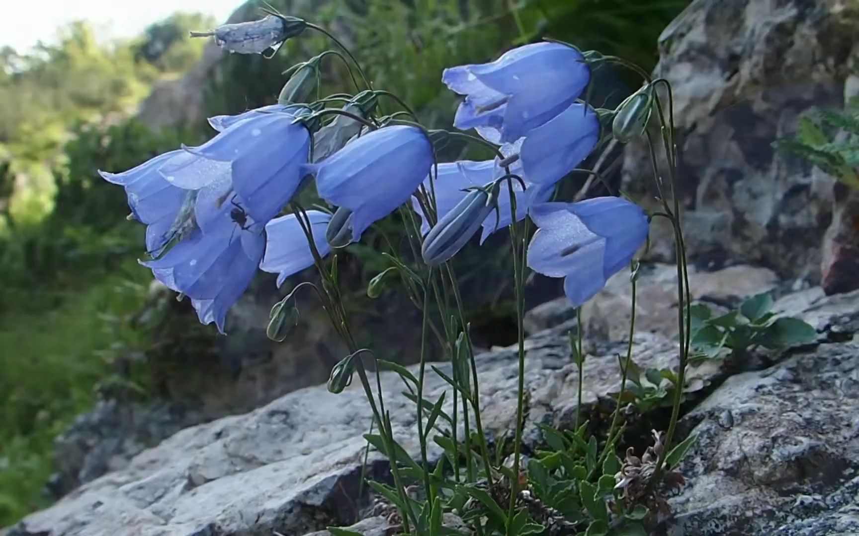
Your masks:
<svg viewBox="0 0 859 536"><path fill-rule="evenodd" d="M563 427L575 419L571 327L568 322L527 340L528 445L541 441L537 423ZM641 366L673 365L673 343L661 334L637 334L635 348ZM588 350L583 400L593 404L618 390L615 353L624 351L624 342L589 341ZM509 431L515 419L515 348L481 354L477 361L484 427L494 437ZM448 364L439 366L450 374ZM721 375L718 367L704 366L691 371L690 382L700 388ZM417 455L415 412L400 394L403 384L391 372L382 373L381 382L395 437ZM427 376L426 398L436 400L446 388L435 374ZM303 534L348 524L361 506L356 494L369 423L369 407L356 385L342 394L324 386L304 388L252 413L180 431L127 467L28 516L11 535ZM438 455L430 449L431 457ZM369 476L383 479L387 462L373 453L369 460Z"/></svg>

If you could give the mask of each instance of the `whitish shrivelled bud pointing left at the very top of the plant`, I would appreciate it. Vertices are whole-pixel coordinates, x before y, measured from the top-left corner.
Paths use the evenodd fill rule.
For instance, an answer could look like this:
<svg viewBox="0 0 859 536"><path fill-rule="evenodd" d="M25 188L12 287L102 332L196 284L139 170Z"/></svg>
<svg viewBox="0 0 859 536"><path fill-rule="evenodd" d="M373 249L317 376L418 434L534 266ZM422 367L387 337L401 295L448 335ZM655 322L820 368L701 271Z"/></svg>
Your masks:
<svg viewBox="0 0 859 536"><path fill-rule="evenodd" d="M215 37L216 45L239 54L262 54L304 31L307 22L296 17L268 15L259 21L223 24L208 32L191 32L191 37Z"/></svg>

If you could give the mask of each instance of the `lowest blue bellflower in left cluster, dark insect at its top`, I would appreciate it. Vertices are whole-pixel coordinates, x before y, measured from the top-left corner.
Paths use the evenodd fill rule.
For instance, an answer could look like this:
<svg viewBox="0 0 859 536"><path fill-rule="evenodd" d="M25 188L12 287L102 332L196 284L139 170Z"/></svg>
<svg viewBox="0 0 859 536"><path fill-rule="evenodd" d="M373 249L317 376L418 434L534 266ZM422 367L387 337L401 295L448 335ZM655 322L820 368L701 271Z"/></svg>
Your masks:
<svg viewBox="0 0 859 536"><path fill-rule="evenodd" d="M160 259L141 262L165 286L191 298L200 322L215 322L224 333L227 311L247 290L265 248L259 223L247 213L225 205Z"/></svg>

